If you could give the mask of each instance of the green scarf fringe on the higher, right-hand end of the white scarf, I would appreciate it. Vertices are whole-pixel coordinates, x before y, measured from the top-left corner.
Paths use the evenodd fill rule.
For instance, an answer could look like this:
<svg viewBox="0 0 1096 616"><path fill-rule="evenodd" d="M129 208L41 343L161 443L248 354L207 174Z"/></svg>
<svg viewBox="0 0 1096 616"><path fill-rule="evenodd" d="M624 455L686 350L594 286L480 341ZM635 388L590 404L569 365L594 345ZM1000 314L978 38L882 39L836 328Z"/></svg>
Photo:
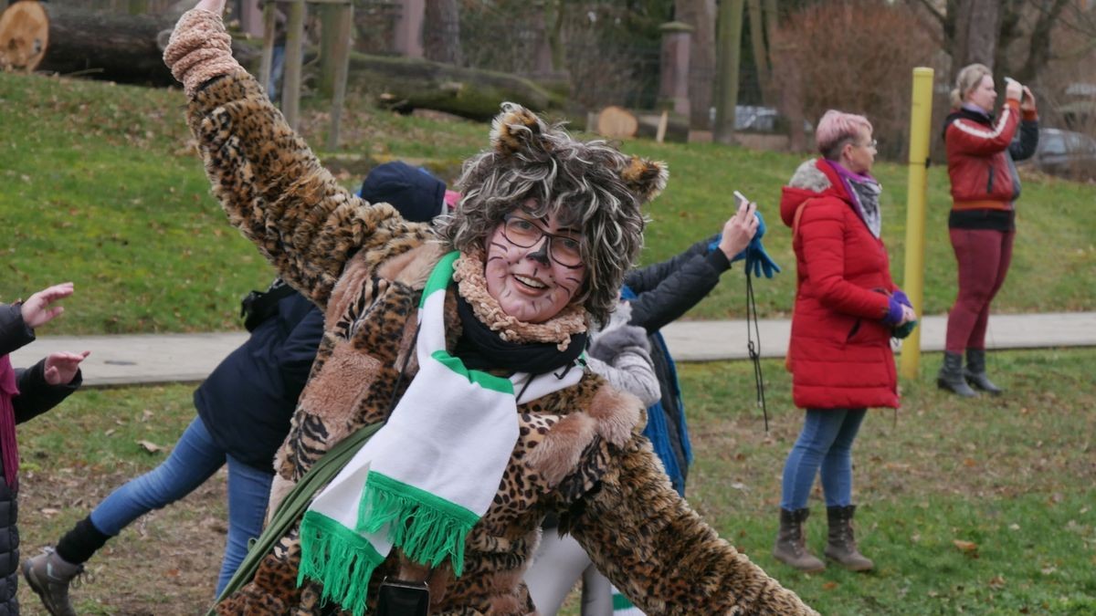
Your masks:
<svg viewBox="0 0 1096 616"><path fill-rule="evenodd" d="M379 533L411 560L437 567L446 558L453 573L465 568L465 541L479 516L425 490L370 472L358 506L357 531Z"/></svg>

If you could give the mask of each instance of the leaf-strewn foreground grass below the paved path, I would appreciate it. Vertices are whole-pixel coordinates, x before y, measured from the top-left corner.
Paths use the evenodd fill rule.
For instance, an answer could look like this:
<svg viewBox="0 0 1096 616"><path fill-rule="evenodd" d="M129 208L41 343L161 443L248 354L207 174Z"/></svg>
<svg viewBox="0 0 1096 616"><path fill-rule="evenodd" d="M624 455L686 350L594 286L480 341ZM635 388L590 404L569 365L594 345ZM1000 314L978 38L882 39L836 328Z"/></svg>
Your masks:
<svg viewBox="0 0 1096 616"><path fill-rule="evenodd" d="M747 362L682 366L696 460L689 502L720 534L822 614L1096 612L1096 351L994 353L1000 399L961 401L928 376L905 407L872 412L855 448L860 547L877 570L803 575L769 555L785 456L802 418L787 374L765 362L770 426ZM933 364L935 358L929 358ZM85 390L20 426L24 554L53 544L110 491L163 459L194 417L192 387ZM224 474L140 518L73 591L81 614L184 615L213 594L225 538ZM825 541L812 499L811 547ZM957 543L958 541L958 543ZM20 589L23 613L43 614ZM571 605L563 612L576 615Z"/></svg>

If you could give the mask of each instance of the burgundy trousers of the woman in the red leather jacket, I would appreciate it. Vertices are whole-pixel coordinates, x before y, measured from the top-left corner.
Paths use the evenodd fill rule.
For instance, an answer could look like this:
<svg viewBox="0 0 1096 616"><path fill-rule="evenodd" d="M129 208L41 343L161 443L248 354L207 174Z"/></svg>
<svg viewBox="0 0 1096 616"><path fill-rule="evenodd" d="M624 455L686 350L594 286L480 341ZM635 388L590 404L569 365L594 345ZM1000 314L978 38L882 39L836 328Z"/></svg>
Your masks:
<svg viewBox="0 0 1096 616"><path fill-rule="evenodd" d="M985 349L990 303L1008 273L1016 231L950 229L949 235L959 263L959 293L948 312L945 346L961 354L967 349Z"/></svg>

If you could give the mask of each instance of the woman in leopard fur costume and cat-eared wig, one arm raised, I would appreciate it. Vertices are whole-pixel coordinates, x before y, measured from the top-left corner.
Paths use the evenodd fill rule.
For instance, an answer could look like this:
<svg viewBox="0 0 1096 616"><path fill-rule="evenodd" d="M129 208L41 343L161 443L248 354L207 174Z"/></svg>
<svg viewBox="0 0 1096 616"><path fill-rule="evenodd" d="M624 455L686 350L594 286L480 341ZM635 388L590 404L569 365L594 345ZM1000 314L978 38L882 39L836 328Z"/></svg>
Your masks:
<svg viewBox="0 0 1096 616"><path fill-rule="evenodd" d="M320 614L330 611L324 600L331 598L362 614L376 608L380 581L398 577L429 582L432 614L535 614L522 573L550 512L647 614L813 614L689 509L641 435L642 403L579 362L589 322L606 319L640 250L640 206L664 186L664 167L602 141L576 141L505 104L492 127L492 148L465 164L456 213L436 228L407 223L389 205L343 190L286 125L232 59L224 3L202 0L184 14L164 59L183 82L191 129L229 219L327 319L310 381L275 459L272 507L362 426L387 422L358 456L406 424L401 415L427 420L411 426L413 437L399 442L396 455L377 454L362 468L369 480L361 501L345 501L362 507L359 523L331 531L372 540L363 549L380 559L370 564L364 552L336 554L338 541L321 541L310 554L309 544L324 533L304 529L309 516L345 513L323 504L343 486L340 475L217 611ZM742 247L747 223L743 218ZM424 354L434 322L444 335ZM480 376L455 383L434 366L437 357L453 370ZM424 384L424 374L437 383ZM444 387L475 389L475 381L489 389L494 386L482 384L500 380L505 387L484 393L494 398L483 412L509 408L500 421L514 424L512 433L499 436L486 425L463 438L464 422L478 417L453 421L463 398L443 393ZM424 388L425 397L419 395ZM431 450L429 460L407 459L414 455L404 452L418 452L419 440L438 431L445 432L435 435L444 450ZM504 456L493 475L460 472L463 463L452 464L479 464L500 443ZM471 511L475 523L458 545L446 544L432 557L413 545L414 537L402 536L436 531L423 510L369 525L379 505L366 493L381 465L416 463L427 474L454 478L438 492L465 482L478 492L471 500L488 497ZM431 492L423 502L445 495ZM343 558L350 564L331 564Z"/></svg>

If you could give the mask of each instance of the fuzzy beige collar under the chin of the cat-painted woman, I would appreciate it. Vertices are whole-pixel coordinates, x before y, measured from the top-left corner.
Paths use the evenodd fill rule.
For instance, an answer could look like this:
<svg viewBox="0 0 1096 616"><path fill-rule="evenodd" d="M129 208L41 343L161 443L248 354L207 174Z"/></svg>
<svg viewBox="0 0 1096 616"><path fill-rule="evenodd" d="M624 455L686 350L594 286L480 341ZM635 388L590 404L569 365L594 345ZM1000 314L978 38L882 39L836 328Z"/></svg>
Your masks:
<svg viewBox="0 0 1096 616"><path fill-rule="evenodd" d="M572 334L586 331L586 311L576 304L567 306L543 323L527 323L511 317L487 292L483 267L482 251L461 252L454 264L453 280L457 281L457 292L471 305L476 318L499 332L506 342L555 342L563 351Z"/></svg>

